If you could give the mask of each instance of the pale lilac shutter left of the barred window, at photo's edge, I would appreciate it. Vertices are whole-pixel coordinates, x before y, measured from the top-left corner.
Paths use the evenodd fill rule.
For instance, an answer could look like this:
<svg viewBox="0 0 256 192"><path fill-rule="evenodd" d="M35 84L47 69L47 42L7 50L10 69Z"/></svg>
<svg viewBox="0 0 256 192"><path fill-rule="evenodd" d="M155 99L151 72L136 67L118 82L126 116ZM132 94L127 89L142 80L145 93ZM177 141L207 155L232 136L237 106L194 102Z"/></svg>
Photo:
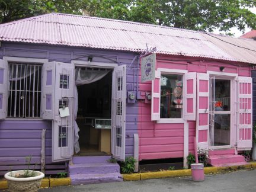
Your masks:
<svg viewBox="0 0 256 192"><path fill-rule="evenodd" d="M8 62L0 59L0 120L7 117Z"/></svg>

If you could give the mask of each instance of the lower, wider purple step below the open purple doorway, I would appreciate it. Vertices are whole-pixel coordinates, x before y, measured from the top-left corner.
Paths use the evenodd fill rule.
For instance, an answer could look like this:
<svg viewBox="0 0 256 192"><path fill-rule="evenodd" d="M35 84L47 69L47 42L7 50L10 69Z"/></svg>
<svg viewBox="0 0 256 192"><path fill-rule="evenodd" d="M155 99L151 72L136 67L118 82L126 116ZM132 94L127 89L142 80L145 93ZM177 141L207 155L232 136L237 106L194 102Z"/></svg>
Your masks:
<svg viewBox="0 0 256 192"><path fill-rule="evenodd" d="M105 163L86 163L69 165L69 174L105 174L120 172L119 164Z"/></svg>

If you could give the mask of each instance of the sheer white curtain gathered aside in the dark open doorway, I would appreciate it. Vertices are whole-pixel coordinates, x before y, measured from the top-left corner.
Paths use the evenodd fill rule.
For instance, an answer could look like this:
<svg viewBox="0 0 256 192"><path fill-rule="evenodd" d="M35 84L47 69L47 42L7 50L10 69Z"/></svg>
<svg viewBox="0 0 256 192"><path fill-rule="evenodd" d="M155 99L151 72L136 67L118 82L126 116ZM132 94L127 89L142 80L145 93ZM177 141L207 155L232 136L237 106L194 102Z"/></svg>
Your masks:
<svg viewBox="0 0 256 192"><path fill-rule="evenodd" d="M100 68L76 68L75 69L75 110L74 110L74 116L76 119L77 112L78 112L78 89L77 86L79 85L85 85L85 84L91 84L92 82L99 81L100 79L104 78L105 75L108 73L108 69L100 69ZM74 126L74 149L75 152L78 153L80 151L79 147L79 127L78 124L75 121Z"/></svg>

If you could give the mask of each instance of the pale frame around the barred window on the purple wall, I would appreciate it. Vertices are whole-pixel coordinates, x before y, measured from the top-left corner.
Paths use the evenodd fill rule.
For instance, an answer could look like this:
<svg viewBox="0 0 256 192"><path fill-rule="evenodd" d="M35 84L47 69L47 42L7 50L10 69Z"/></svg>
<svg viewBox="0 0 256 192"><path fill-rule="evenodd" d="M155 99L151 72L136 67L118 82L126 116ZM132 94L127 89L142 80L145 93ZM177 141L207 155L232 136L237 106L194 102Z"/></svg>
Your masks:
<svg viewBox="0 0 256 192"><path fill-rule="evenodd" d="M9 56L4 56L3 60L5 62L11 63L11 62L24 62L24 63L38 63L43 65L43 63L48 62L48 59L37 59L37 58L31 58L31 57L9 57ZM8 76L9 76L9 68L8 68ZM40 100L42 103L42 98ZM8 120L21 120L20 117L7 117ZM22 120L42 120L41 117L39 118L22 118Z"/></svg>

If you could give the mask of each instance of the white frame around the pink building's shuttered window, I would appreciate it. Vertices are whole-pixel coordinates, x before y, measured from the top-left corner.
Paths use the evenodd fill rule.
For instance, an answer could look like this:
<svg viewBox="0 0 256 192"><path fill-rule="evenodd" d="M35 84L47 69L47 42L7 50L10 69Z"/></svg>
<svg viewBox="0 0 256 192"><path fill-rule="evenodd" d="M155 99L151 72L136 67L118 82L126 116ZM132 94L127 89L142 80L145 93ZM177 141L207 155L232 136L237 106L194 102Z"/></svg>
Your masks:
<svg viewBox="0 0 256 192"><path fill-rule="evenodd" d="M180 69L167 69L167 68L158 68L157 69L161 74L171 74L171 75L182 75L182 79L183 79L183 84L185 81L185 73L188 73L187 70L180 70ZM159 88L160 92L161 92L161 86ZM184 91L184 87L183 87L183 91ZM160 100L159 100L160 102ZM159 105L160 107L160 105ZM160 118L159 120L156 120L156 123L185 123L187 122L187 120L183 119L183 113L181 113L181 118Z"/></svg>

